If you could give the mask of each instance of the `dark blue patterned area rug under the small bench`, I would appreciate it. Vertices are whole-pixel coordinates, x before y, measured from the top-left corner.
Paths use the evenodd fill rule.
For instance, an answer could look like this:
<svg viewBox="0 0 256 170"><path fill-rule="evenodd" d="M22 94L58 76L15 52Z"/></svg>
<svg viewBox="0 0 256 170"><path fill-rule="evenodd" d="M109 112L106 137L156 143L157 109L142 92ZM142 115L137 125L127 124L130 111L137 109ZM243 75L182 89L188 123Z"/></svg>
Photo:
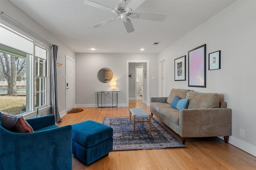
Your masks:
<svg viewBox="0 0 256 170"><path fill-rule="evenodd" d="M113 128L113 150L186 147L155 119L151 122L151 134L149 123L136 123L136 134L133 134L133 120L130 123L129 117L104 117L103 120L104 125Z"/></svg>

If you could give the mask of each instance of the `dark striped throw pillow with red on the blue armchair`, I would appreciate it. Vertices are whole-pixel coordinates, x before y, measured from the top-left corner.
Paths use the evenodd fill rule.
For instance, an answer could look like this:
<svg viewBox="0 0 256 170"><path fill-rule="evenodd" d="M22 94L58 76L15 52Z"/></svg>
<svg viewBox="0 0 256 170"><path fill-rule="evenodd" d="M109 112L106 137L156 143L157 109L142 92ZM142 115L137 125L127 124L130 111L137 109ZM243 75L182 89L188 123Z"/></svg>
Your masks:
<svg viewBox="0 0 256 170"><path fill-rule="evenodd" d="M22 116L0 113L0 118L2 127L8 131L18 133L34 132L33 128Z"/></svg>

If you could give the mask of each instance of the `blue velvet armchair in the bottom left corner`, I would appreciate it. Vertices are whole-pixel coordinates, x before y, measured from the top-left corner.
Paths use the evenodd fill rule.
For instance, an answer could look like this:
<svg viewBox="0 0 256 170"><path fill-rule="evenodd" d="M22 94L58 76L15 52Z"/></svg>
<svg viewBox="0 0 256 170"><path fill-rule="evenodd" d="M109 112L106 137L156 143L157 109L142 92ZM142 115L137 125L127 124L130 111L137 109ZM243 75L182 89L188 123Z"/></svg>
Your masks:
<svg viewBox="0 0 256 170"><path fill-rule="evenodd" d="M32 133L0 126L1 170L72 170L71 125L58 127L54 115L26 119Z"/></svg>

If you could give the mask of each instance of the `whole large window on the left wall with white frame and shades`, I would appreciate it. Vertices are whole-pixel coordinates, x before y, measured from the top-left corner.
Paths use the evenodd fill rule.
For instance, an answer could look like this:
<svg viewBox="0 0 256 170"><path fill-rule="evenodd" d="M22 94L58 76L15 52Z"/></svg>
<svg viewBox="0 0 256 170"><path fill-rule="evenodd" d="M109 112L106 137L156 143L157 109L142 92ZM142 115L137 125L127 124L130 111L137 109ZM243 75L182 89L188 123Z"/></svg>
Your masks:
<svg viewBox="0 0 256 170"><path fill-rule="evenodd" d="M0 111L19 115L48 106L50 47L2 23L0 34Z"/></svg>

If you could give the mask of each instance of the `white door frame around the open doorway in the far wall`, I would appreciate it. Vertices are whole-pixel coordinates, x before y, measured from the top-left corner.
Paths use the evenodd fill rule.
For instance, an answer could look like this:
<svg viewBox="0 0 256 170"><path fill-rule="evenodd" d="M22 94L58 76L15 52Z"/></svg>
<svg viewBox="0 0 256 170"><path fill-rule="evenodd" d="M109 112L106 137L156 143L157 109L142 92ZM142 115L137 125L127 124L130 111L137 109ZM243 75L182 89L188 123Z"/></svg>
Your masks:
<svg viewBox="0 0 256 170"><path fill-rule="evenodd" d="M143 103L145 103L147 106L150 106L150 62L149 60L126 60L126 107L129 106L129 63L146 63L147 65L147 74L146 74L146 101L143 100ZM145 71L145 68L144 68ZM144 88L144 87L143 87ZM144 93L144 89L143 89ZM145 94L145 93L144 93ZM145 98L144 98L145 99Z"/></svg>

